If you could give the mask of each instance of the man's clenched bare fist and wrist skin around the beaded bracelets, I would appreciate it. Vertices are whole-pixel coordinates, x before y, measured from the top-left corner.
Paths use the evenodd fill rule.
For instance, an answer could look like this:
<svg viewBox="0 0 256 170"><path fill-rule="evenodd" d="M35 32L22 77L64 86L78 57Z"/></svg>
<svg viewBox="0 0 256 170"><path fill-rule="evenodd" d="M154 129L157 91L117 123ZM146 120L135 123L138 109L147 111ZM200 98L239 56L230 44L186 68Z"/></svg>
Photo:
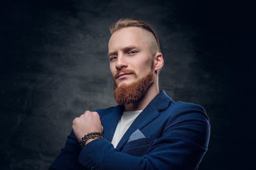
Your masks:
<svg viewBox="0 0 256 170"><path fill-rule="evenodd" d="M76 117L72 122L72 128L76 139L80 142L84 135L91 132L103 132L103 126L101 126L101 120L97 112L85 111L80 117ZM88 144L94 139L89 139L85 142Z"/></svg>

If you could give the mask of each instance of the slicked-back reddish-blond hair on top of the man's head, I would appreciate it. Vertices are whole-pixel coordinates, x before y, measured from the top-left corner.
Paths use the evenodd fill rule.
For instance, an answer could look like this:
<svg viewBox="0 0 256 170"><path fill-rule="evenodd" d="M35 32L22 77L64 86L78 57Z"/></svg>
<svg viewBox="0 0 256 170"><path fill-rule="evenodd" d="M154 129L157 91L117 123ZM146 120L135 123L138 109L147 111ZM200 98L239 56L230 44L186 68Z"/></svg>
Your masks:
<svg viewBox="0 0 256 170"><path fill-rule="evenodd" d="M155 37L155 40L157 41L158 51L159 51L159 53L161 52L160 51L159 39L157 37L157 34L151 28L151 26L149 26L146 22L143 22L143 21L135 19L135 18L124 18L124 19L120 19L117 22L113 23L109 27L109 30L110 30L110 33L112 35L113 33L115 33L119 29L126 28L126 27L131 27L131 26L139 27L139 28L145 29L146 31L149 31L150 33L152 33Z"/></svg>

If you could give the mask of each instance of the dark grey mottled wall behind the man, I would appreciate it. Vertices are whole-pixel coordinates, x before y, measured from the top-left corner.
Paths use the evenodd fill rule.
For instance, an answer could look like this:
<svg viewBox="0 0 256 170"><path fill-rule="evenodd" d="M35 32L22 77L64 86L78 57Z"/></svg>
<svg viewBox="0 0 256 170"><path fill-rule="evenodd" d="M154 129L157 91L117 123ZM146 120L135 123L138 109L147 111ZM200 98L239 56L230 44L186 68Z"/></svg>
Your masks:
<svg viewBox="0 0 256 170"><path fill-rule="evenodd" d="M252 4L192 0L0 2L0 169L46 170L85 110L116 105L108 26L148 22L164 67L159 86L211 121L200 170L255 169ZM252 156L249 156L251 155Z"/></svg>

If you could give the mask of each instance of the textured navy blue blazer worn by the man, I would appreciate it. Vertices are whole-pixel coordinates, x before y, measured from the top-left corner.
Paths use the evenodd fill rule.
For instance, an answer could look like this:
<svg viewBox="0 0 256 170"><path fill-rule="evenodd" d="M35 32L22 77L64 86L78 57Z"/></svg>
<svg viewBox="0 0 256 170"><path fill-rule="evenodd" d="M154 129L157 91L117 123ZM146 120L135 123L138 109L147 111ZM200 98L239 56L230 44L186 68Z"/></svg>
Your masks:
<svg viewBox="0 0 256 170"><path fill-rule="evenodd" d="M174 102L164 91L148 104L114 148L123 106L96 110L104 138L82 150L72 131L49 170L196 170L207 151L210 124L204 108Z"/></svg>

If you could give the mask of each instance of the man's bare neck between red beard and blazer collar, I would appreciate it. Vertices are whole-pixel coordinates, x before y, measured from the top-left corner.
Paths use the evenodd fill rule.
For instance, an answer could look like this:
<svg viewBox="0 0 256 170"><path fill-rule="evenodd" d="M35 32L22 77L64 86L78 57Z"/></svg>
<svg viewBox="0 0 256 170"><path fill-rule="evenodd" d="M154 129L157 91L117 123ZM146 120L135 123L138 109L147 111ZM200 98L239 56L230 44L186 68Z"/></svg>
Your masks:
<svg viewBox="0 0 256 170"><path fill-rule="evenodd" d="M150 88L148 88L148 91L146 95L141 97L137 102L125 104L124 105L124 111L132 111L132 110L144 110L146 106L151 102L151 100L154 99L154 97L159 93L159 88L157 83L153 83Z"/></svg>

